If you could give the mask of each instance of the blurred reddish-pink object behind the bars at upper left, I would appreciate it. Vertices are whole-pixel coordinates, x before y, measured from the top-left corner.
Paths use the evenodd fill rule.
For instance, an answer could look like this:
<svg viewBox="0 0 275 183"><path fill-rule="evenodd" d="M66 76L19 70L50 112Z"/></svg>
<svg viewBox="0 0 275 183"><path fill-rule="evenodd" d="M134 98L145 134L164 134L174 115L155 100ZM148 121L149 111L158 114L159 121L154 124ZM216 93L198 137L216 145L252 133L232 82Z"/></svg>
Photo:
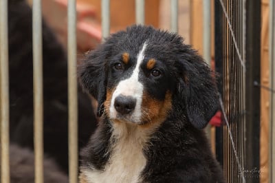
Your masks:
<svg viewBox="0 0 275 183"><path fill-rule="evenodd" d="M43 0L43 16L55 30L59 41L67 47L67 0ZM78 2L77 12L77 44L78 51L87 52L101 42L101 25L96 22L94 6Z"/></svg>

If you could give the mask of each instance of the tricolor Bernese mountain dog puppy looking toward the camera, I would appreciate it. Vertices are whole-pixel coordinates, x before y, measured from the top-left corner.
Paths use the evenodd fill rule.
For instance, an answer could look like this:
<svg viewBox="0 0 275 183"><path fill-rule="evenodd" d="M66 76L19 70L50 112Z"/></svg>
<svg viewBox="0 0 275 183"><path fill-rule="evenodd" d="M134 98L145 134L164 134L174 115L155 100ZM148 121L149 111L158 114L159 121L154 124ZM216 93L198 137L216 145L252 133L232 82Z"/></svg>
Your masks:
<svg viewBox="0 0 275 183"><path fill-rule="evenodd" d="M202 128L219 108L210 68L181 36L133 25L78 67L98 100L80 182L222 182Z"/></svg>

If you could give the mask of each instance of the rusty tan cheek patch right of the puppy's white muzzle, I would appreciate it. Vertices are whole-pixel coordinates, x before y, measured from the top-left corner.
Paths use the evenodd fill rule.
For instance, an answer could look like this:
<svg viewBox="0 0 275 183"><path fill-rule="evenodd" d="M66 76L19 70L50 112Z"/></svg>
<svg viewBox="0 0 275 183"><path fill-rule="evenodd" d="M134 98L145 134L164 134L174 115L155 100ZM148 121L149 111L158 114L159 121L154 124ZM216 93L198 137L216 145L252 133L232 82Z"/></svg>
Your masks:
<svg viewBox="0 0 275 183"><path fill-rule="evenodd" d="M172 109L172 96L166 92L165 99L159 101L144 95L142 102L142 120L146 122L142 127L160 125L167 118L168 112Z"/></svg>

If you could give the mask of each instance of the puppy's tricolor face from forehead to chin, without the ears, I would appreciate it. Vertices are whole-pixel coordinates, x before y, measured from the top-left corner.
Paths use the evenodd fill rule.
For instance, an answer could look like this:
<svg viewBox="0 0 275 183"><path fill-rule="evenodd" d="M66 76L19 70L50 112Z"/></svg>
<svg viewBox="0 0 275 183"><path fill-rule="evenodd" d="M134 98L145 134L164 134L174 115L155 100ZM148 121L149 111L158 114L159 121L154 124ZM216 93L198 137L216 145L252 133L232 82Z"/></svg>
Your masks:
<svg viewBox="0 0 275 183"><path fill-rule="evenodd" d="M171 109L175 79L168 66L142 43L137 52L122 50L107 62L104 110L111 120L145 125L164 120Z"/></svg>

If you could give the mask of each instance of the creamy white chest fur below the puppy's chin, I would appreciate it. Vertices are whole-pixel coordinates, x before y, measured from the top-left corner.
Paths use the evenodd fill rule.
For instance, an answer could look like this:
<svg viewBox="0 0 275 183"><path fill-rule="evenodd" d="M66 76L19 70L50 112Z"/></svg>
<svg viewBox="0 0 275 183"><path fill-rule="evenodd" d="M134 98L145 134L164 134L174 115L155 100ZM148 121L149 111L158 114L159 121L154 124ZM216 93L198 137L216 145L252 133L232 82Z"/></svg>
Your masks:
<svg viewBox="0 0 275 183"><path fill-rule="evenodd" d="M140 173L146 165L142 149L151 130L123 122L113 123L113 142L111 157L104 171L83 171L89 182L134 183L142 182Z"/></svg>

